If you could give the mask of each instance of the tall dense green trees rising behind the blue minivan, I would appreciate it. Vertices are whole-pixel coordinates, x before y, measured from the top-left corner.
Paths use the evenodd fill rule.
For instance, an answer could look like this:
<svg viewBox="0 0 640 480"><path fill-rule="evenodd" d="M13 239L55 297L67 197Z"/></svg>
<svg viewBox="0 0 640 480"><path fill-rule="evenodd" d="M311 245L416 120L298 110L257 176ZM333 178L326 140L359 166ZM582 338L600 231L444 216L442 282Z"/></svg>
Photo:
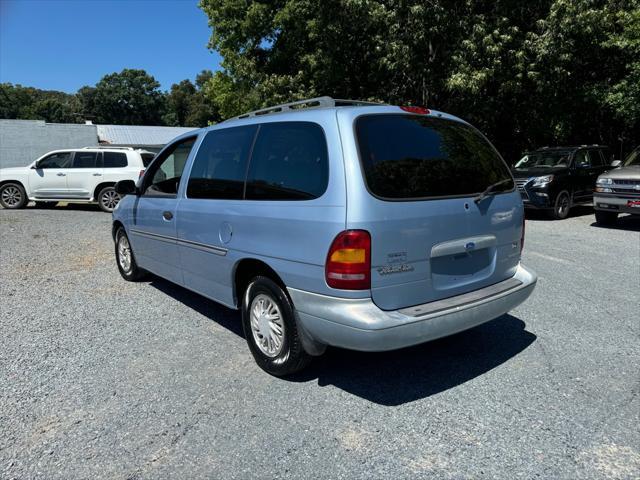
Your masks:
<svg viewBox="0 0 640 480"><path fill-rule="evenodd" d="M320 95L469 120L508 160L640 141L639 0L201 0L222 117Z"/></svg>

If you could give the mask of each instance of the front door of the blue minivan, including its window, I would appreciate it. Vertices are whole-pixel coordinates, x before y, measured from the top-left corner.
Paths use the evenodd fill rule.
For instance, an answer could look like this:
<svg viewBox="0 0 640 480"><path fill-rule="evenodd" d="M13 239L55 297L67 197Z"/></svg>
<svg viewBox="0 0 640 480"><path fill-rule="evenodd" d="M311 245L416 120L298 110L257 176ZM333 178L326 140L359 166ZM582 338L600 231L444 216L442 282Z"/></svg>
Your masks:
<svg viewBox="0 0 640 480"><path fill-rule="evenodd" d="M130 240L138 265L182 285L176 240L178 189L196 137L166 147L143 177L136 198Z"/></svg>

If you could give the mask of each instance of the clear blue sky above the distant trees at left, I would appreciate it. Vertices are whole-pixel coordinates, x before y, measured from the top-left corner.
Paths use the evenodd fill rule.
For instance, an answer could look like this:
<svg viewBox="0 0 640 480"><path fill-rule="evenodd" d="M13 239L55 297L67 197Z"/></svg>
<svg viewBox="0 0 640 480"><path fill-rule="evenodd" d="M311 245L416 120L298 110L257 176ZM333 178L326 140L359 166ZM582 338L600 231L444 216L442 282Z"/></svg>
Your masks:
<svg viewBox="0 0 640 480"><path fill-rule="evenodd" d="M217 70L197 0L0 0L0 82L74 93L124 68L162 90Z"/></svg>

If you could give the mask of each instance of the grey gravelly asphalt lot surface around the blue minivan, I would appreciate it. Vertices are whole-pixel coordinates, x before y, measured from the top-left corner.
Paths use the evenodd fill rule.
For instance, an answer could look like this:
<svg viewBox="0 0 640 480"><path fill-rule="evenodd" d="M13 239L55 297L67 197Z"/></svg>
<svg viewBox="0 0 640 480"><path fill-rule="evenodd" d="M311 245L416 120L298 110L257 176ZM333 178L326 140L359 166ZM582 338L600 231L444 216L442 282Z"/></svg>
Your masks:
<svg viewBox="0 0 640 480"><path fill-rule="evenodd" d="M263 373L239 315L131 284L110 215L0 210L0 478L640 476L640 220L527 222L527 303Z"/></svg>

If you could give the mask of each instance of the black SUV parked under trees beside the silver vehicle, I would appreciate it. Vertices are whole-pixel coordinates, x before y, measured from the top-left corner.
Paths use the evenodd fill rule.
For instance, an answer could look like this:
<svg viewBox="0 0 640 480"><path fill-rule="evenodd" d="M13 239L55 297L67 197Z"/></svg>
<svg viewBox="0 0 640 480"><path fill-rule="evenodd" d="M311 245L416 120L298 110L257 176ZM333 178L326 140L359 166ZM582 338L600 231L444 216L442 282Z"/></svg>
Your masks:
<svg viewBox="0 0 640 480"><path fill-rule="evenodd" d="M609 149L600 145L544 147L526 153L512 172L525 208L561 220L573 206L591 205L596 178L610 163Z"/></svg>

